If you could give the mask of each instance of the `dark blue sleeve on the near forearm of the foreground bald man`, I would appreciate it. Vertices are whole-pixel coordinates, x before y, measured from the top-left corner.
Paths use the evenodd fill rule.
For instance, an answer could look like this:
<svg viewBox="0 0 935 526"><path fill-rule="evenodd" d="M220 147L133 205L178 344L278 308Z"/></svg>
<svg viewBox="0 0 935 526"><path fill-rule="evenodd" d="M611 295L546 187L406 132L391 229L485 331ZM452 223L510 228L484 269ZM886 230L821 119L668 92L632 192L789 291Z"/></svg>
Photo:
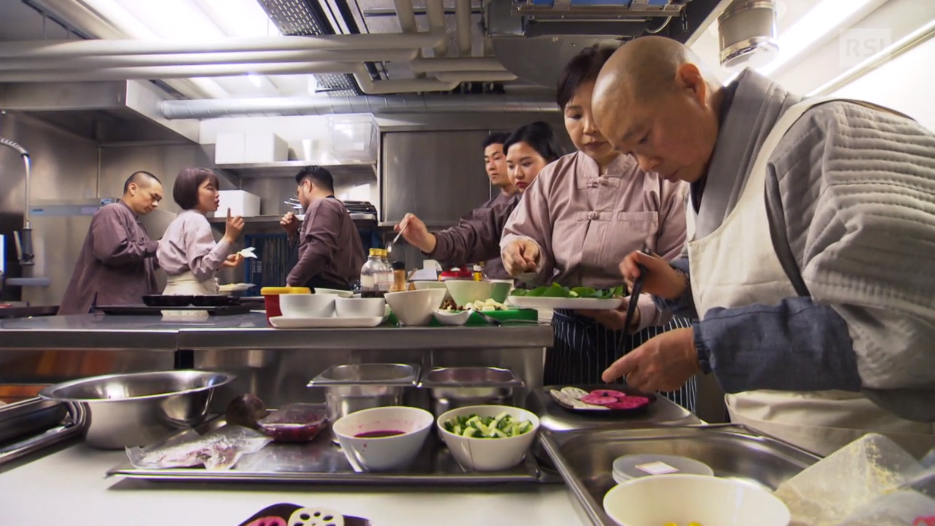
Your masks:
<svg viewBox="0 0 935 526"><path fill-rule="evenodd" d="M699 360L708 362L702 367L710 367L725 392L860 390L847 324L811 298L713 308L694 329Z"/></svg>

